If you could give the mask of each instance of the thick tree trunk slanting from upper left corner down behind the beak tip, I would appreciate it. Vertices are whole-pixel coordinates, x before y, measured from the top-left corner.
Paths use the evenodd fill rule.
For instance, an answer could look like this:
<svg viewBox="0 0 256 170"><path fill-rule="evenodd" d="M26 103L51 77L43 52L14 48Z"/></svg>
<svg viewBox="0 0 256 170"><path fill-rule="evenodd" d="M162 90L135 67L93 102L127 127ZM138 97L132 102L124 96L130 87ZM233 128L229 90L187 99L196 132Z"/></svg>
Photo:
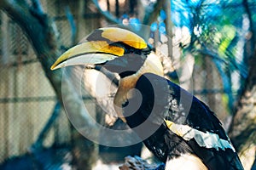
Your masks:
<svg viewBox="0 0 256 170"><path fill-rule="evenodd" d="M20 0L0 0L0 5L0 8L9 14L31 41L44 73L55 89L61 105L64 105L63 99L65 99L65 109L75 120L77 130L84 129L86 132L90 132L92 138L97 138L99 132L96 124L90 121L90 115L84 110L84 102L77 94L73 82L70 79L62 78L61 70L50 71L49 69L61 54L61 42L58 39L55 23L42 13L41 9L38 12L33 7L38 7L37 3L30 7L27 3L20 3ZM78 131L73 131L73 144L78 167L90 169L92 161L96 158L96 145L90 140L84 139ZM90 156L88 157L88 155Z"/></svg>

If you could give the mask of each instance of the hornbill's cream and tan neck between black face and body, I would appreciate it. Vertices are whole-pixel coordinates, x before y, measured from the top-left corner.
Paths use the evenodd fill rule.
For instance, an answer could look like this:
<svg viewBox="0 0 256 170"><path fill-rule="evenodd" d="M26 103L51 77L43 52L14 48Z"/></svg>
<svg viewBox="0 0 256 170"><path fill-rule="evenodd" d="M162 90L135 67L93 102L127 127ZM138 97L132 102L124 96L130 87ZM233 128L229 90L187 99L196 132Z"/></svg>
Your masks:
<svg viewBox="0 0 256 170"><path fill-rule="evenodd" d="M117 112L117 115L125 122L123 116L122 105L128 101L132 96L132 88L136 87L137 80L144 73L154 73L163 77L163 67L161 65L159 57L154 54L148 54L147 59L145 60L143 66L135 74L132 74L129 77L123 77L119 81L119 88L115 97L113 99L114 109ZM123 117L123 118L122 118Z"/></svg>

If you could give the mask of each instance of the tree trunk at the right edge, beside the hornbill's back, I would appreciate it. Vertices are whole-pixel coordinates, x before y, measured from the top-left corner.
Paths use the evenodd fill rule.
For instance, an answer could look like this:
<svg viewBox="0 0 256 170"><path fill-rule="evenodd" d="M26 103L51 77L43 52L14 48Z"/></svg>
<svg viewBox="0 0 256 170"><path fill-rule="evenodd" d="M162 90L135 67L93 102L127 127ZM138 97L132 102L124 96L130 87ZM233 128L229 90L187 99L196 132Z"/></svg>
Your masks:
<svg viewBox="0 0 256 170"><path fill-rule="evenodd" d="M256 153L256 50L248 61L249 73L241 98L235 108L235 116L230 126L229 136L239 151L245 169L253 166ZM248 155L248 153L250 153Z"/></svg>

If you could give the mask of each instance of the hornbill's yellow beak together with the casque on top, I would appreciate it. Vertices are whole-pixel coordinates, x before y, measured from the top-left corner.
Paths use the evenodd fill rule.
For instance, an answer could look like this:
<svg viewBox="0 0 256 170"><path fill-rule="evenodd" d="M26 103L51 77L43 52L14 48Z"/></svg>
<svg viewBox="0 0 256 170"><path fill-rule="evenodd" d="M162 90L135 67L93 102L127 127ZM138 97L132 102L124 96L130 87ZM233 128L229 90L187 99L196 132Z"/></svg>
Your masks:
<svg viewBox="0 0 256 170"><path fill-rule="evenodd" d="M114 42L123 42L126 45L143 49L147 43L135 33L120 28L101 28L91 33L88 42L80 43L68 49L50 67L55 70L68 65L95 65L105 63L125 54L125 49L111 45Z"/></svg>

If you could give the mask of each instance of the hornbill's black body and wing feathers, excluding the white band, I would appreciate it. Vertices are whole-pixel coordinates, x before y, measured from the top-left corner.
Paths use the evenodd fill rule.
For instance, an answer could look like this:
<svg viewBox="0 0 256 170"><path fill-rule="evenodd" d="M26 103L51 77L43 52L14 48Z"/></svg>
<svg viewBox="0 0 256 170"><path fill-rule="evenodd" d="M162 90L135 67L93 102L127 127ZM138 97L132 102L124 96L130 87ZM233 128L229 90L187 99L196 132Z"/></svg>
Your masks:
<svg viewBox="0 0 256 170"><path fill-rule="evenodd" d="M201 132L218 134L220 139L230 142L207 105L177 84L151 73L140 77L136 88L139 93L129 99L130 107L124 108L124 115L128 125L160 161L189 153L200 157L209 169L243 169L236 152L230 148L201 147L195 139L187 141L166 127L165 119ZM129 108L138 103L140 107L131 115Z"/></svg>

